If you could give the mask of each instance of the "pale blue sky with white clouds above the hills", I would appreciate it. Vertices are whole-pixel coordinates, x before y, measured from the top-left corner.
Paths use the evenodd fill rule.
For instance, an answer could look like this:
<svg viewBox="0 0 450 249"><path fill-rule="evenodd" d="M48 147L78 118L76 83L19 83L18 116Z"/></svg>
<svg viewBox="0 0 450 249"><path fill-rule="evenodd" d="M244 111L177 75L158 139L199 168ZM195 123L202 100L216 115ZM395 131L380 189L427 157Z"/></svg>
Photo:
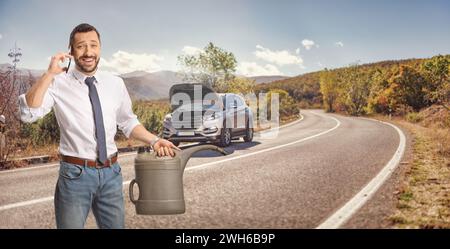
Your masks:
<svg viewBox="0 0 450 249"><path fill-rule="evenodd" d="M79 23L100 31L104 70L177 70L211 41L238 73L298 75L351 63L450 53L450 1L0 1L0 63L46 69Z"/></svg>

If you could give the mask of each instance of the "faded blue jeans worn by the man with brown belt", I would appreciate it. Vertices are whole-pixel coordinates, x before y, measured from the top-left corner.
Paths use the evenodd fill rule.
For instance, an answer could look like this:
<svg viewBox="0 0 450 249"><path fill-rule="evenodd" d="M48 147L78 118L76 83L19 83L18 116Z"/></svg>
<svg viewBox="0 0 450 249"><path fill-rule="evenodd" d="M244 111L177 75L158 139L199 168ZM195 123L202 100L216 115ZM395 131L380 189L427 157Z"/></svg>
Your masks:
<svg viewBox="0 0 450 249"><path fill-rule="evenodd" d="M118 162L93 168L60 162L55 190L57 228L84 228L89 210L99 228L124 228L122 173Z"/></svg>

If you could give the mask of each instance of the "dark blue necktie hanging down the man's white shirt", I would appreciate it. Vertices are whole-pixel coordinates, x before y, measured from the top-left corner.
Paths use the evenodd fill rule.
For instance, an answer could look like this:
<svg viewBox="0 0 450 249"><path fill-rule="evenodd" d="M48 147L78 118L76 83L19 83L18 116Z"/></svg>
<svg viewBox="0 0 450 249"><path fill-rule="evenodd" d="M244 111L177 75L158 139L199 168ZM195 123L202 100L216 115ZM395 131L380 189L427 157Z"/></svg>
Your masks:
<svg viewBox="0 0 450 249"><path fill-rule="evenodd" d="M100 99L98 98L97 88L94 85L95 77L87 77L84 81L89 87L89 99L92 104L92 111L94 112L95 122L95 137L97 138L97 150L98 160L104 164L108 159L106 155L106 139L105 139L105 126L103 124L102 107L100 105Z"/></svg>

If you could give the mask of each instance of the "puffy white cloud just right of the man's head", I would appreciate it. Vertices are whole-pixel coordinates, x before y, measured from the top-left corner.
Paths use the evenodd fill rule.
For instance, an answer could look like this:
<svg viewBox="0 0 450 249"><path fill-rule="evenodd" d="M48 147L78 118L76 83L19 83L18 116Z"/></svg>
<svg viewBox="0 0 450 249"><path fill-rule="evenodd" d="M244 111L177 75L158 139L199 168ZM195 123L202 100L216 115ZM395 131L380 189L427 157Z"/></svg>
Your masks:
<svg viewBox="0 0 450 249"><path fill-rule="evenodd" d="M152 73L161 70L159 63L163 60L164 57L155 54L135 54L119 50L114 53L109 60L101 58L99 66L103 70L118 74L130 73L138 70Z"/></svg>

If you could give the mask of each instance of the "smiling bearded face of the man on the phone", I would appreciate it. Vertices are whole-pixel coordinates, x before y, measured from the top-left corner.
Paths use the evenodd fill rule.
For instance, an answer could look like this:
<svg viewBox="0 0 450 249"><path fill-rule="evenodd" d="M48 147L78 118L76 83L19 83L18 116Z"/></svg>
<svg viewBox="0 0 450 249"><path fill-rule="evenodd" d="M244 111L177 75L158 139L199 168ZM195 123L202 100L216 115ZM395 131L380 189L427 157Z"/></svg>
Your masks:
<svg viewBox="0 0 450 249"><path fill-rule="evenodd" d="M72 56L81 72L92 75L100 61L100 41L95 31L76 33Z"/></svg>

